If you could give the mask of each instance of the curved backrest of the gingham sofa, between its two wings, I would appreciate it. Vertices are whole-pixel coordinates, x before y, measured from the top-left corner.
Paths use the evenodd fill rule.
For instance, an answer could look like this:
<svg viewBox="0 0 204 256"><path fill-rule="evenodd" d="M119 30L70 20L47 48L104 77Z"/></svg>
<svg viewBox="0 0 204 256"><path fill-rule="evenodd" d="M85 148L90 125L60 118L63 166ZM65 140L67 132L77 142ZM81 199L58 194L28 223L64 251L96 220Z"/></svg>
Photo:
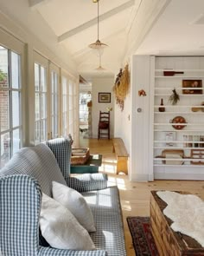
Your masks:
<svg viewBox="0 0 204 256"><path fill-rule="evenodd" d="M41 185L43 193L52 195L52 181L67 185L52 151L45 144L22 148L1 170L3 174L27 174Z"/></svg>

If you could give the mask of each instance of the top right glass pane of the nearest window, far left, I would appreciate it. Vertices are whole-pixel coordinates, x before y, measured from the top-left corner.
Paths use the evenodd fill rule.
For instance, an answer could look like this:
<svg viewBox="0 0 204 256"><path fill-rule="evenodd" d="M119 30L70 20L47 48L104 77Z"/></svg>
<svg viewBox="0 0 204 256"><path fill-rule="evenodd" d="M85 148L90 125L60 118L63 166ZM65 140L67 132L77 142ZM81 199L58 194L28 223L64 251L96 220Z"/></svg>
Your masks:
<svg viewBox="0 0 204 256"><path fill-rule="evenodd" d="M12 88L20 89L20 72L19 72L19 65L20 65L20 56L17 55L15 52L11 52L11 83Z"/></svg>

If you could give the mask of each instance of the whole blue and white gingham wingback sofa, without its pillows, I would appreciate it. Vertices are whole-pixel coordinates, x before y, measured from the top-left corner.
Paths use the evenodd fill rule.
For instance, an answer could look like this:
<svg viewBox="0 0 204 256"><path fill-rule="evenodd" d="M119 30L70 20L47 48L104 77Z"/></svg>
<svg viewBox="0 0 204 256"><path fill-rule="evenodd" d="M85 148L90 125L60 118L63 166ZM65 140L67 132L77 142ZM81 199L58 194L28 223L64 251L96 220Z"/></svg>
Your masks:
<svg viewBox="0 0 204 256"><path fill-rule="evenodd" d="M69 140L52 140L22 148L0 170L0 255L126 255L118 187L107 187L104 174L83 174L72 179L70 155ZM52 181L68 184L86 198L96 224L97 232L90 235L97 250L55 249L41 236L41 192L52 196Z"/></svg>

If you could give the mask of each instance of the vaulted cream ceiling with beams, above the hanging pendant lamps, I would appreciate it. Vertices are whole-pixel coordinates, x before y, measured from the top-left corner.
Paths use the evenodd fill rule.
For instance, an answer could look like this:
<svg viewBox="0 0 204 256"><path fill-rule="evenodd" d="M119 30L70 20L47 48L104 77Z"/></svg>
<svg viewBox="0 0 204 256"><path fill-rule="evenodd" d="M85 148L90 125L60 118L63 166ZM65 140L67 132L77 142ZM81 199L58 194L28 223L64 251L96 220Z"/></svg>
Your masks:
<svg viewBox="0 0 204 256"><path fill-rule="evenodd" d="M97 3L92 0L29 0L77 63L80 74L118 73L129 61L169 0L99 0L99 39L108 44L99 56L88 47L97 40Z"/></svg>

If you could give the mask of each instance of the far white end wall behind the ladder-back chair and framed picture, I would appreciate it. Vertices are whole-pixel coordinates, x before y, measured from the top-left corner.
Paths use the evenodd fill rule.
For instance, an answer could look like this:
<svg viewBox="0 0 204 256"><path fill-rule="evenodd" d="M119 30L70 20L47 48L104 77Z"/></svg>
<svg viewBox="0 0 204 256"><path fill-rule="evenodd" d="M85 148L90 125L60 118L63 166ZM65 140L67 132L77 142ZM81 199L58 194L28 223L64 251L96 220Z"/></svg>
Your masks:
<svg viewBox="0 0 204 256"><path fill-rule="evenodd" d="M112 108L111 111L111 138L114 134L114 96L112 88L114 85L114 76L92 79L92 137L98 137L99 112L107 112L106 108ZM99 103L99 92L111 93L111 103Z"/></svg>

